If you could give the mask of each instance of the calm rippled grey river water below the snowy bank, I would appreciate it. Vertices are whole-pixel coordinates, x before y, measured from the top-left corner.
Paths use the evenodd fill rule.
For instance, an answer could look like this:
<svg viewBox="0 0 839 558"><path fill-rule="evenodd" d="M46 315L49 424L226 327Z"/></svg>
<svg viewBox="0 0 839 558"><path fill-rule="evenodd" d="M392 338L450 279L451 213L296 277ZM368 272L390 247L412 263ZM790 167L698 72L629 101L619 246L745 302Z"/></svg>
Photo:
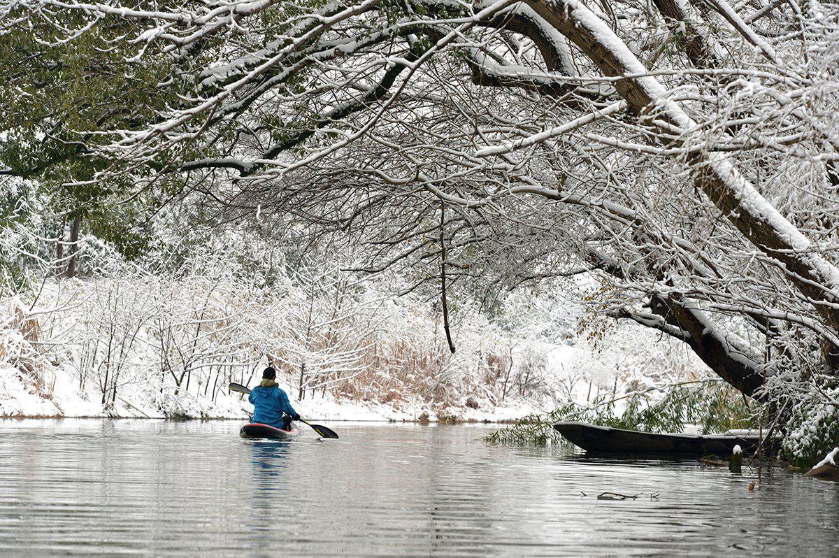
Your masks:
<svg viewBox="0 0 839 558"><path fill-rule="evenodd" d="M330 425L341 440L2 420L0 555L839 553L839 485L800 473L489 446L487 425Z"/></svg>

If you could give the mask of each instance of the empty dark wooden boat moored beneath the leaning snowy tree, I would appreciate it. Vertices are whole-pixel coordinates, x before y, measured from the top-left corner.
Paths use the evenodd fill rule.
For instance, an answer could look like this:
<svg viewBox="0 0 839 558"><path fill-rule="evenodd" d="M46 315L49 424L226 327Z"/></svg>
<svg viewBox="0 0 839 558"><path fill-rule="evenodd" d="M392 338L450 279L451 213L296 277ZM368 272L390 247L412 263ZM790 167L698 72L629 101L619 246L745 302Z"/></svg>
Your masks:
<svg viewBox="0 0 839 558"><path fill-rule="evenodd" d="M659 455L704 456L728 455L734 446L744 452L755 451L760 435L753 430L733 430L727 434L651 434L638 430L621 430L585 422L558 422L554 428L587 453L646 453ZM763 443L772 452L774 444Z"/></svg>

